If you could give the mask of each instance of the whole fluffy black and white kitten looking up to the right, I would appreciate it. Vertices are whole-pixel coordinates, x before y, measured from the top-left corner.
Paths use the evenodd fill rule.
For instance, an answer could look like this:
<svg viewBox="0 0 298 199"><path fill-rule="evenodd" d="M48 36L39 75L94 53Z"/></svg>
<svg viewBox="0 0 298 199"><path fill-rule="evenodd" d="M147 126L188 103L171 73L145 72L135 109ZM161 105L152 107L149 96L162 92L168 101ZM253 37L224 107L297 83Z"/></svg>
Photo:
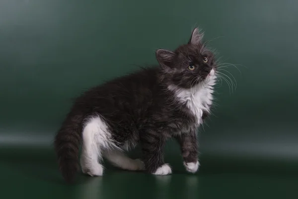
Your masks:
<svg viewBox="0 0 298 199"><path fill-rule="evenodd" d="M103 175L102 158L125 170L171 174L163 159L169 137L180 146L188 172L197 172L197 130L209 114L216 84L214 54L195 28L187 44L175 51L158 49L158 67L94 87L78 97L55 137L60 170L72 182L80 165L90 176ZM141 159L124 151L142 146Z"/></svg>

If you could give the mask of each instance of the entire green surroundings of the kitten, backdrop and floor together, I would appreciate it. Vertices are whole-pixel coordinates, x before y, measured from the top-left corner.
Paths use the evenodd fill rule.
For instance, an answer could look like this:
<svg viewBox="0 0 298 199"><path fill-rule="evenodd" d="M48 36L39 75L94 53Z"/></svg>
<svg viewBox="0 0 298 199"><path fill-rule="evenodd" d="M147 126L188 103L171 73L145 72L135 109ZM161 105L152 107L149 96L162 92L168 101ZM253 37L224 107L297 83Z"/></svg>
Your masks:
<svg viewBox="0 0 298 199"><path fill-rule="evenodd" d="M0 0L0 198L297 198L298 1ZM217 87L200 129L201 169L121 171L64 183L52 147L72 100L91 86L157 64L205 30L237 89ZM240 72L239 72L240 71ZM230 78L232 76L224 72Z"/></svg>

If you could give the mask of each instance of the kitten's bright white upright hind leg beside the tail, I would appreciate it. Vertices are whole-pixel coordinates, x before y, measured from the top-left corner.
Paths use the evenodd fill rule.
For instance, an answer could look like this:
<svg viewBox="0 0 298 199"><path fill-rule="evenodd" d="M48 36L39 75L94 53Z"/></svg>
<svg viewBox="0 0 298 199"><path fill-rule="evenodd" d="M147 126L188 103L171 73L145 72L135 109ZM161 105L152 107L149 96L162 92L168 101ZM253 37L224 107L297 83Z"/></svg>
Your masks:
<svg viewBox="0 0 298 199"><path fill-rule="evenodd" d="M82 172L90 176L102 176L103 166L102 153L110 147L108 127L100 117L92 117L87 122L82 131L82 154L80 164Z"/></svg>

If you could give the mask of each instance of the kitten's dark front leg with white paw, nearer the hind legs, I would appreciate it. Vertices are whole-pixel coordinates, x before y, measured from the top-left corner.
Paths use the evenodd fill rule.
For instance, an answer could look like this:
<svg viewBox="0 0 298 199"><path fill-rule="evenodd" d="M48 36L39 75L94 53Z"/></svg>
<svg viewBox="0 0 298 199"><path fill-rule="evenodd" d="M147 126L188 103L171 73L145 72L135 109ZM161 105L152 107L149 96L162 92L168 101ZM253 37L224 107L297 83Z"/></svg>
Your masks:
<svg viewBox="0 0 298 199"><path fill-rule="evenodd" d="M163 147L165 138L162 132L145 131L140 134L143 150L145 169L154 175L168 175L172 170L168 164L164 164Z"/></svg>

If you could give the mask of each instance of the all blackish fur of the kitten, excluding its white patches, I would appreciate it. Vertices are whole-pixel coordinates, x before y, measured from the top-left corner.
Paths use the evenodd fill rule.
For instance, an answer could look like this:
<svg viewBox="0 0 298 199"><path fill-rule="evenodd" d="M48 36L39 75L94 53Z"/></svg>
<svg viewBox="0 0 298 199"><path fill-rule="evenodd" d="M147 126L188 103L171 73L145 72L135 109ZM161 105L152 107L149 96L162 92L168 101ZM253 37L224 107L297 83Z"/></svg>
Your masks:
<svg viewBox="0 0 298 199"><path fill-rule="evenodd" d="M190 41L175 51L156 51L160 66L91 88L75 100L55 138L60 170L67 182L73 181L79 168L82 121L97 114L107 122L118 146L126 141L141 143L142 160L149 173L164 164L163 146L171 136L180 143L185 162L198 159L197 119L167 87L189 89L203 82L216 67L214 55L201 42L202 36L195 29ZM191 64L194 70L189 70Z"/></svg>

